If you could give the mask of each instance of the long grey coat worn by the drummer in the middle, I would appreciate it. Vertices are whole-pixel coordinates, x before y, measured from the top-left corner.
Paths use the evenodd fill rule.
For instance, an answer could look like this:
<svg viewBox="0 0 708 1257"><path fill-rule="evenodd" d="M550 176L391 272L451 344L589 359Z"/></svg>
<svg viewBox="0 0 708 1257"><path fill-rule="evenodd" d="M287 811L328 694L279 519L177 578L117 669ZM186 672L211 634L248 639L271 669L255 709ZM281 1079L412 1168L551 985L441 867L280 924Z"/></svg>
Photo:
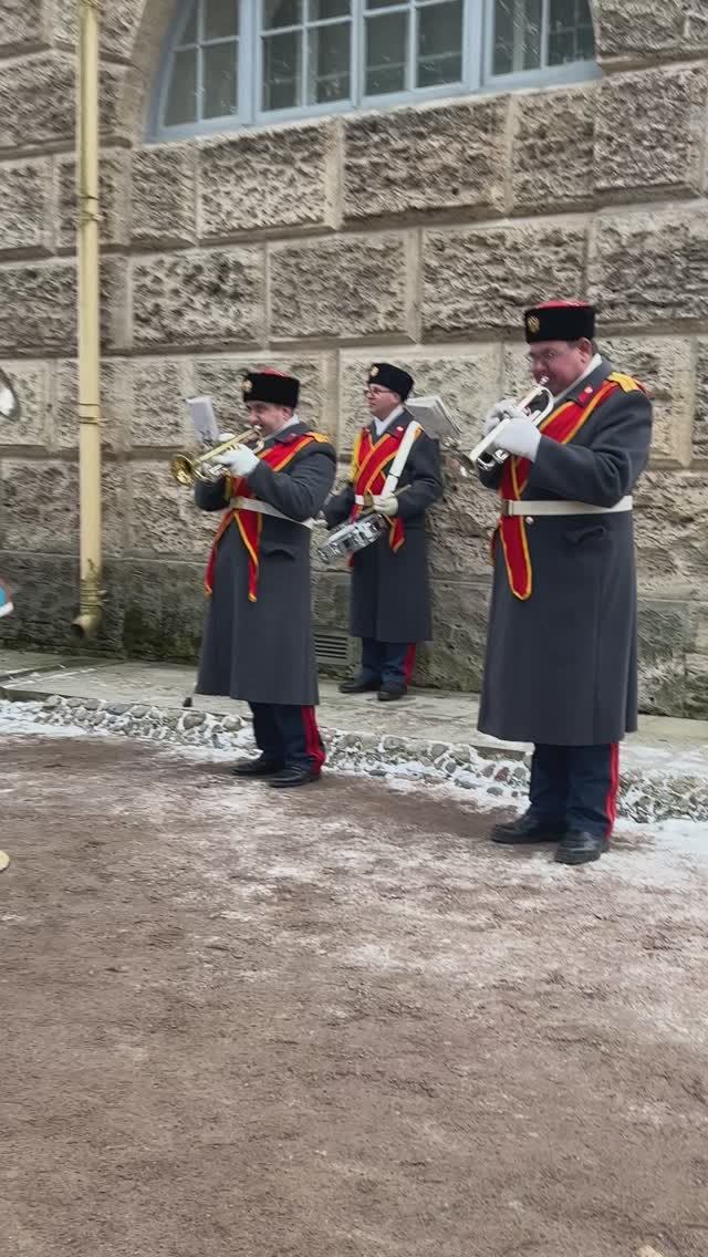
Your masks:
<svg viewBox="0 0 708 1257"><path fill-rule="evenodd" d="M395 426L412 422L404 411ZM397 553L389 544L389 532L353 556L350 601L352 637L376 641L419 642L433 635L428 583L425 512L443 494L440 447L423 432L407 458L399 488L399 515L405 524L405 542ZM346 485L324 507L329 528L350 518L355 504L353 485Z"/></svg>

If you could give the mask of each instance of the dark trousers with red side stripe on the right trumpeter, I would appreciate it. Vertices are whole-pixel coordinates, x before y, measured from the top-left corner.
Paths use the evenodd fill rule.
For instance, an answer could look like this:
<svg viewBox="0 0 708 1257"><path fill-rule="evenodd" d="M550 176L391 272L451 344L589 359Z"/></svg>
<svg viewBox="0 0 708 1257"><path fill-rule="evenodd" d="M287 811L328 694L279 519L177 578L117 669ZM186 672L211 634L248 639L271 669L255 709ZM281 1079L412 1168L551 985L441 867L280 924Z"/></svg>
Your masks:
<svg viewBox="0 0 708 1257"><path fill-rule="evenodd" d="M609 837L617 810L619 763L616 742L534 747L529 812L551 826Z"/></svg>

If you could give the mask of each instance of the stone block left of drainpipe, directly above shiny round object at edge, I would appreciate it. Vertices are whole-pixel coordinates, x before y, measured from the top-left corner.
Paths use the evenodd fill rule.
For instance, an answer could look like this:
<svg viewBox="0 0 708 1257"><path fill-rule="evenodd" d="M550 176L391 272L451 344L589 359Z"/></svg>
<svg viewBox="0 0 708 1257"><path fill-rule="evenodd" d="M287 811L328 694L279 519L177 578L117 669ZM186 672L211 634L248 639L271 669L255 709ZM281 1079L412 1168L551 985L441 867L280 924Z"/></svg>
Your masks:
<svg viewBox="0 0 708 1257"><path fill-rule="evenodd" d="M75 300L73 263L0 269L0 353L70 348Z"/></svg>

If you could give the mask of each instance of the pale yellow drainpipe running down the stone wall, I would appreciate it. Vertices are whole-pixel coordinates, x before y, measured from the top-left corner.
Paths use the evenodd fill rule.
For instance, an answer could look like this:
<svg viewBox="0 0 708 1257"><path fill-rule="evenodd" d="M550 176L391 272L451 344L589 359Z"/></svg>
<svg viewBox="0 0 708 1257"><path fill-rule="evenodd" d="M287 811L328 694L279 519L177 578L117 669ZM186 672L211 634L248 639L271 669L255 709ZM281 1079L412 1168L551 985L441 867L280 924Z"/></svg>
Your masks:
<svg viewBox="0 0 708 1257"><path fill-rule="evenodd" d="M102 615L98 3L99 0L78 0L77 260L80 601L79 615L72 627L74 634L82 639L96 632Z"/></svg>

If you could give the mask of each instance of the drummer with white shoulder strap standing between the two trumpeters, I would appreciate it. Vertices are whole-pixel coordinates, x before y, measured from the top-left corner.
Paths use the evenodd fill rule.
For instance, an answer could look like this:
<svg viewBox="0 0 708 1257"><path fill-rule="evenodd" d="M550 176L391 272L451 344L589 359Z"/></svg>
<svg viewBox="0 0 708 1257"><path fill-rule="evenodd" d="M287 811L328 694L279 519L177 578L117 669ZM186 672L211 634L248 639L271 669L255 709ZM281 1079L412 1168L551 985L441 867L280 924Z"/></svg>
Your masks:
<svg viewBox="0 0 708 1257"><path fill-rule="evenodd" d="M405 409L412 376L390 362L367 372L370 422L358 432L346 486L324 507L329 528L356 519L372 494L387 528L351 559L350 631L361 639L361 667L340 685L342 694L376 690L382 703L406 694L418 642L431 632L425 512L443 494L440 449L425 432L415 439L397 494L385 494L386 474L411 415Z"/></svg>

